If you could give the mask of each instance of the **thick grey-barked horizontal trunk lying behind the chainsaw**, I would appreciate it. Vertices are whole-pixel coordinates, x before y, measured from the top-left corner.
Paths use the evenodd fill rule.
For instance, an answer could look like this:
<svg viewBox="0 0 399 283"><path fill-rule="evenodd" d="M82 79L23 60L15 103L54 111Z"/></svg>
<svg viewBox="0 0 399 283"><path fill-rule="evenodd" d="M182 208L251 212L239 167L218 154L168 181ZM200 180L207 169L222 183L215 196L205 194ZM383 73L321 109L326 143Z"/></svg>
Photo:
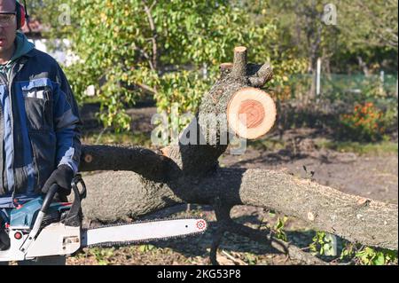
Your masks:
<svg viewBox="0 0 399 283"><path fill-rule="evenodd" d="M298 217L317 231L397 250L397 205L341 193L309 180L264 169L217 169L204 178L148 182L133 172L86 177L84 215L99 222L137 219L177 203L251 205Z"/></svg>

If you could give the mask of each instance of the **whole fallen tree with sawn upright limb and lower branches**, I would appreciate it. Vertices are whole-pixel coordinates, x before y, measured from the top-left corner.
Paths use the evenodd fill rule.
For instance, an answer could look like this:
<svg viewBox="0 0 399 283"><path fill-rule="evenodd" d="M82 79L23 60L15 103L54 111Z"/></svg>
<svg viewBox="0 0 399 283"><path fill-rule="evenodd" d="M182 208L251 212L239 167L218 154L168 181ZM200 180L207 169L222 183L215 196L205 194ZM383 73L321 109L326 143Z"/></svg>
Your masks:
<svg viewBox="0 0 399 283"><path fill-rule="evenodd" d="M158 152L137 146L83 146L80 170L106 171L91 178L83 214L109 223L137 219L178 203L211 205L218 221L213 263L224 232L269 243L305 263L323 263L270 233L235 223L230 211L236 205L270 208L303 219L317 231L397 250L397 205L340 193L281 172L218 166L232 138L262 137L276 117L270 96L259 89L272 77L270 65L247 64L245 47L234 53L234 62L221 66L219 80L176 145Z"/></svg>

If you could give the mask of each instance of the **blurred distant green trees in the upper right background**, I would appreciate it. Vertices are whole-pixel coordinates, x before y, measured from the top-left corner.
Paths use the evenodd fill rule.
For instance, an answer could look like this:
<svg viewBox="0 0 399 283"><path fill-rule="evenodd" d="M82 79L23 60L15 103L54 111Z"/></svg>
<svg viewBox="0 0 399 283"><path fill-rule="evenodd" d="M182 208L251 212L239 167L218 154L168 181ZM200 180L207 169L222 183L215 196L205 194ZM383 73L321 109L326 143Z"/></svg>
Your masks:
<svg viewBox="0 0 399 283"><path fill-rule="evenodd" d="M336 25L325 24L325 2L320 0L242 0L248 11L278 21L279 44L296 46L295 56L308 59L312 73L317 58L327 73L383 68L397 71L397 1L339 1Z"/></svg>

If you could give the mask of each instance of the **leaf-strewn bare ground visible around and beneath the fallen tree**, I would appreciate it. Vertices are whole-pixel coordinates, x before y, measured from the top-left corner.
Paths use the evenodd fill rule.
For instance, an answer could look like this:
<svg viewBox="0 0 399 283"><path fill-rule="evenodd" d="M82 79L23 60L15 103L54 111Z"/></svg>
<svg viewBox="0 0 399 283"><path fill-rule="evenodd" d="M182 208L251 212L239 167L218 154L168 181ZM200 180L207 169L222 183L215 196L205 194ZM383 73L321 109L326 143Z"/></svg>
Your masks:
<svg viewBox="0 0 399 283"><path fill-rule="evenodd" d="M98 135L92 118L94 108L82 111L83 119L92 125L87 130L86 142L129 142L151 146L148 137L153 130L151 115L156 112L154 107L130 109L128 113L133 117L135 134L118 137L106 131ZM398 203L397 141L375 145L337 143L325 130L286 130L283 135L270 133L261 140L248 143L243 155L231 155L228 150L221 157L220 165L283 170L299 177L313 178L344 193ZM171 216L206 217L210 224L207 232L126 248L86 248L69 257L67 264L208 264L212 232L217 227L214 211L197 206L180 206L178 210L180 212ZM233 208L231 215L239 223L258 229L275 227L278 220L284 219L274 212L248 206ZM293 217L287 218L284 231L287 240L303 249L309 247L315 235L305 223ZM218 260L221 264L298 264L266 246L231 234L224 237Z"/></svg>

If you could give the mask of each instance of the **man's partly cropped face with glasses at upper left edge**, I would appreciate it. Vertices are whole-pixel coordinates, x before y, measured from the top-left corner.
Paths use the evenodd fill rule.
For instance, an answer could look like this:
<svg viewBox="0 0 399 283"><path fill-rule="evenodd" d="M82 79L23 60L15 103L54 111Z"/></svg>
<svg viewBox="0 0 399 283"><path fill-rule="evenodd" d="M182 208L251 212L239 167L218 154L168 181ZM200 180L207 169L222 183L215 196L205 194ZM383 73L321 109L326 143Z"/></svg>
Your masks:
<svg viewBox="0 0 399 283"><path fill-rule="evenodd" d="M0 53L13 47L17 30L16 15L2 14L4 12L15 12L15 0L0 0L0 17L3 17L0 19Z"/></svg>

